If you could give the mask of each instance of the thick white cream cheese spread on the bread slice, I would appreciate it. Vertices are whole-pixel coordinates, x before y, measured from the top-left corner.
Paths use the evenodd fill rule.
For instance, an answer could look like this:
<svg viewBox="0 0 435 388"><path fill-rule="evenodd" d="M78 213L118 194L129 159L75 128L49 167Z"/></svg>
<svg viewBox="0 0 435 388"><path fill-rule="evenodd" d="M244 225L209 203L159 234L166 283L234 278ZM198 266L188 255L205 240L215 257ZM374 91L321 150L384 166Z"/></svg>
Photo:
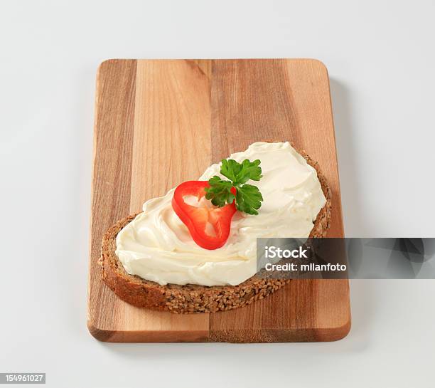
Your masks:
<svg viewBox="0 0 435 388"><path fill-rule="evenodd" d="M237 285L257 272L258 237L308 237L326 199L316 169L289 142L256 142L229 159L260 159L262 179L247 182L264 198L259 214L237 211L225 245L208 250L193 241L173 211L171 189L146 201L144 211L117 235L116 254L127 273L161 285ZM213 164L199 180L219 172L220 164Z"/></svg>

